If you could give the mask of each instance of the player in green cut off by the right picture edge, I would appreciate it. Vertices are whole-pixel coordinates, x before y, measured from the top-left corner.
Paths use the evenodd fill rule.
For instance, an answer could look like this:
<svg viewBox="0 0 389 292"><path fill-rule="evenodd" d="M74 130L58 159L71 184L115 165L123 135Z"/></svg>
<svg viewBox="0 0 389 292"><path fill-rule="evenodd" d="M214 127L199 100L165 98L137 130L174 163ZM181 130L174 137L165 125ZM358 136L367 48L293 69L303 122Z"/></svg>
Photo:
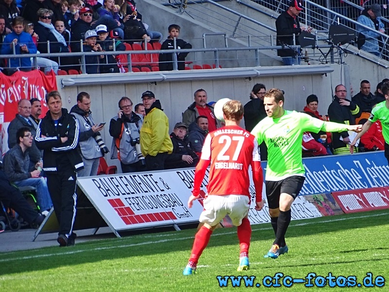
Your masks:
<svg viewBox="0 0 389 292"><path fill-rule="evenodd" d="M371 125L377 120L381 121L382 135L385 140L385 157L389 164L389 82L385 82L381 86L382 94L385 96L385 101L378 103L372 110L369 119L363 124L362 131L356 135L354 141L350 144L350 152L354 152L354 146L356 141L365 134Z"/></svg>

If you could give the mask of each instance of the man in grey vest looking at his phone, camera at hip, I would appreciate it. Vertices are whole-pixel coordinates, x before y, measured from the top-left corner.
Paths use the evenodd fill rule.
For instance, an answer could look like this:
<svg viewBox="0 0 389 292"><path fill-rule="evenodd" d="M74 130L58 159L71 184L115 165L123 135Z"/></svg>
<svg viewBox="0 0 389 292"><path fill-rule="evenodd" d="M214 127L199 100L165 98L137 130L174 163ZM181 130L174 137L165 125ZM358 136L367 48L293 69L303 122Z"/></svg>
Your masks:
<svg viewBox="0 0 389 292"><path fill-rule="evenodd" d="M80 141L84 169L78 172L79 177L97 175L100 157L103 156L95 137L100 136L99 132L103 130L104 125L94 123L92 112L90 111L90 103L90 95L84 91L80 92L77 95L77 104L70 110L70 113L76 118L80 126L78 141Z"/></svg>

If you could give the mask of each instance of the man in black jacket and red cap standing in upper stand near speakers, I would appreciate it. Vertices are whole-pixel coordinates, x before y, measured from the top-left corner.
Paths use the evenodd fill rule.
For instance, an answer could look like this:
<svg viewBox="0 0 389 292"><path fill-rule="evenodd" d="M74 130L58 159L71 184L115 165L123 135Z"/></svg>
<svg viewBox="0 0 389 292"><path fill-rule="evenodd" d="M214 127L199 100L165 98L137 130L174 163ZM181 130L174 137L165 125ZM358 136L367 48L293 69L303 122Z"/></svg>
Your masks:
<svg viewBox="0 0 389 292"><path fill-rule="evenodd" d="M288 48L293 45L293 35L295 35L296 45L299 45L299 35L301 27L298 16L304 8L300 0L291 0L288 10L280 14L276 20L277 29L277 46L285 46L285 49L277 50L277 55L283 58L284 65L300 65L300 52ZM311 32L311 28L306 28L307 32Z"/></svg>

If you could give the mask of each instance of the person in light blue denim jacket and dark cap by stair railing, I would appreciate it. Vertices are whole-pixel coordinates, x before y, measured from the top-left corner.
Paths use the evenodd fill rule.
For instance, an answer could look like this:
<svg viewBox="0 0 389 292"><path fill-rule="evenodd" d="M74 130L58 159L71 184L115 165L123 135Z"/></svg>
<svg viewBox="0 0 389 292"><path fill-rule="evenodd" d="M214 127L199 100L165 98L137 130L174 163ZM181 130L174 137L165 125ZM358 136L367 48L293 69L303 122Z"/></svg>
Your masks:
<svg viewBox="0 0 389 292"><path fill-rule="evenodd" d="M384 24L381 19L381 6L377 3L371 4L369 8L365 8L362 14L356 20L360 24L368 26L371 30L368 30L361 25L356 26L356 30L359 33L358 35L358 48L379 56L379 44L378 39L380 39L380 35L374 31L379 31L385 34ZM363 37L365 38L365 42L363 43ZM361 39L362 38L362 39ZM362 45L362 46L361 46Z"/></svg>

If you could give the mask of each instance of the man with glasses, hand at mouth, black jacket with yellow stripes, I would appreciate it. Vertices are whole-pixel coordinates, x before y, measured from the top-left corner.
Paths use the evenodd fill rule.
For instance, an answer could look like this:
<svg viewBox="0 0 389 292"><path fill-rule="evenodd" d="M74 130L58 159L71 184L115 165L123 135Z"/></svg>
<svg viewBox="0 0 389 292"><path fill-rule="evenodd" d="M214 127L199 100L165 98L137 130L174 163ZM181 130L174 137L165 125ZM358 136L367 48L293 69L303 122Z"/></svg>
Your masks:
<svg viewBox="0 0 389 292"><path fill-rule="evenodd" d="M331 122L355 125L355 115L359 113L359 107L353 102L346 99L346 87L339 84L335 88L334 101L328 107L328 116ZM350 153L350 140L349 133L333 132L332 133L332 146L334 148L334 154L349 154Z"/></svg>

